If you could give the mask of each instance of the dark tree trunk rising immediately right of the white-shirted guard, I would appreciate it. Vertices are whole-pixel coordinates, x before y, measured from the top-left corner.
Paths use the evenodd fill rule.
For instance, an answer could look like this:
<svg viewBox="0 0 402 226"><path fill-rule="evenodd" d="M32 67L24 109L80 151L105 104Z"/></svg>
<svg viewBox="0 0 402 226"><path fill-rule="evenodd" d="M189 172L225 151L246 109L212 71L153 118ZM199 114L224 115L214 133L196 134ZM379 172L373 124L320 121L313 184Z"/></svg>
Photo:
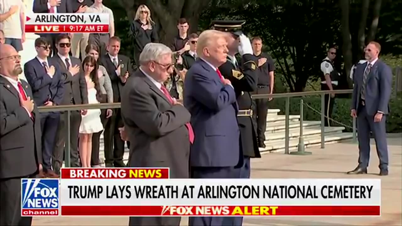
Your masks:
<svg viewBox="0 0 402 226"><path fill-rule="evenodd" d="M340 10L341 10L341 32L342 32L342 52L343 60L345 62L345 71L348 80L349 87L352 87L352 81L349 78L350 69L352 68L352 41L351 34L349 30L349 0L340 0Z"/></svg>

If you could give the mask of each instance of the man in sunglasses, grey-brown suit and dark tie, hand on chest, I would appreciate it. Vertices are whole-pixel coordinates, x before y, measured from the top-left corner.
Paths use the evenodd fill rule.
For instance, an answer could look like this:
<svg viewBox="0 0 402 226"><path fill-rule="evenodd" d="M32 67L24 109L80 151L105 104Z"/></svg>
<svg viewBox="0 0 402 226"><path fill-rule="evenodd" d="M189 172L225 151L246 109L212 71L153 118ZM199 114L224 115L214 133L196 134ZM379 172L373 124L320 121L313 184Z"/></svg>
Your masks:
<svg viewBox="0 0 402 226"><path fill-rule="evenodd" d="M88 103L88 90L86 80L82 72L81 61L78 58L68 55L70 52L70 37L61 34L56 37L57 54L53 60L62 73L64 80L64 97L60 105L80 105ZM80 158L78 153L78 131L81 124L81 115L86 110L71 111L70 135L71 135L71 166L79 167ZM67 112L60 113L59 128L57 129L55 148L52 154L52 165L55 173L59 174L63 163L64 144L66 142Z"/></svg>

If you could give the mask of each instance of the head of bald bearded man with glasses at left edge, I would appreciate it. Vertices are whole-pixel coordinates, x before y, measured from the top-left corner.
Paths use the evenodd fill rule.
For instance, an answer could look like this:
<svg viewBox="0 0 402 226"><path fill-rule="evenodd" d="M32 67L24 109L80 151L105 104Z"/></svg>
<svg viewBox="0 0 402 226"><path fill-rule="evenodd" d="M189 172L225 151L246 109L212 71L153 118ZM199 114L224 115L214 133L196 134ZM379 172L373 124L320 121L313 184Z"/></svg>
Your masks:
<svg viewBox="0 0 402 226"><path fill-rule="evenodd" d="M18 52L11 45L0 44L0 74L16 79L22 72Z"/></svg>

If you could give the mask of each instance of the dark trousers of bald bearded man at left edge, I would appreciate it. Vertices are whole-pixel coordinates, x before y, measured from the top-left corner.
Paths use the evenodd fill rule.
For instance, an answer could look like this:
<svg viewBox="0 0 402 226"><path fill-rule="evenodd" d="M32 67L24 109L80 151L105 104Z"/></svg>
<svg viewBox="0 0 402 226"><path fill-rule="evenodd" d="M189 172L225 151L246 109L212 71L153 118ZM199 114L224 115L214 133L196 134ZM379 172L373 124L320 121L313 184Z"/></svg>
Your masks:
<svg viewBox="0 0 402 226"><path fill-rule="evenodd" d="M32 217L21 216L21 178L0 179L0 225L30 226L32 223Z"/></svg>

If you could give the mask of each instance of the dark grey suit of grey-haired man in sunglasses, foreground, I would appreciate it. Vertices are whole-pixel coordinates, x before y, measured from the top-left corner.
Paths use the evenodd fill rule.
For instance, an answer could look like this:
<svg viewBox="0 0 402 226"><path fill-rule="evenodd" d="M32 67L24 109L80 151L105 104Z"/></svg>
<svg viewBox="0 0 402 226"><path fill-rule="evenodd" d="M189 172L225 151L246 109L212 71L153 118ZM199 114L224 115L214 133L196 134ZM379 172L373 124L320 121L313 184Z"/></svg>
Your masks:
<svg viewBox="0 0 402 226"><path fill-rule="evenodd" d="M169 167L170 178L189 178L190 113L172 105L162 90L137 70L122 92L121 113L129 135L130 167ZM179 145L178 145L179 144ZM180 217L131 217L129 225L179 225Z"/></svg>

